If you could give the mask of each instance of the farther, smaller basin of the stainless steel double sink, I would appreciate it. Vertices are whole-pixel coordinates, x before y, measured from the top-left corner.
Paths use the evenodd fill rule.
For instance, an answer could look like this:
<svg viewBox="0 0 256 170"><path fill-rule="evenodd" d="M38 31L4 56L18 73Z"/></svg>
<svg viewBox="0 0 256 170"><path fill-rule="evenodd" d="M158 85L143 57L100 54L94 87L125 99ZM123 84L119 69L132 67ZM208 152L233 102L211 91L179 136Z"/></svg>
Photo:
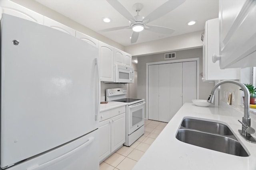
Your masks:
<svg viewBox="0 0 256 170"><path fill-rule="evenodd" d="M219 135L233 135L230 129L222 124L216 123L212 121L203 121L197 119L184 119L181 123L182 127L186 127L188 129L194 129L198 131L204 131L209 133L216 133Z"/></svg>

